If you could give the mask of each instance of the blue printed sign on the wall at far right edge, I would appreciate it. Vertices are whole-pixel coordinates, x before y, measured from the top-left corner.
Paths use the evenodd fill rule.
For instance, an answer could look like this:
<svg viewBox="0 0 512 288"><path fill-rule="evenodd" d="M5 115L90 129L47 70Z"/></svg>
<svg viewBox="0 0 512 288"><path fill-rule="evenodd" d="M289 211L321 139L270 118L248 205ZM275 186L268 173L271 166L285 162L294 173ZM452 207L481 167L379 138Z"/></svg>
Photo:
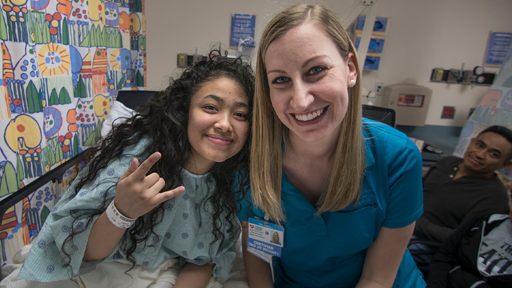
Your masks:
<svg viewBox="0 0 512 288"><path fill-rule="evenodd" d="M490 32L485 49L483 66L501 67L503 59L512 43L512 33L510 32Z"/></svg>

